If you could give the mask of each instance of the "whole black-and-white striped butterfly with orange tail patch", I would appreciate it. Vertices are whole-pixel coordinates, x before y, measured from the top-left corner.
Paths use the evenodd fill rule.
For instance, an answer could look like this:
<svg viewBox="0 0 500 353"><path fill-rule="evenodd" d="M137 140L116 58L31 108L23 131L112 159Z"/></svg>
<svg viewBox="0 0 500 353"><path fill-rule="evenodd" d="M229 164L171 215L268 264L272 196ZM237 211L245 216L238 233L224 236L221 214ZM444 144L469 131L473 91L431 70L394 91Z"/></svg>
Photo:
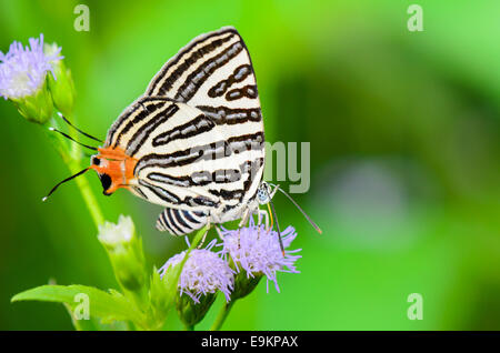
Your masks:
<svg viewBox="0 0 500 353"><path fill-rule="evenodd" d="M106 195L127 189L163 206L157 229L173 235L207 223L241 219L244 224L281 190L262 180L257 81L247 46L232 27L182 48L118 117L103 147L92 149L98 153L90 167L62 182L94 170Z"/></svg>

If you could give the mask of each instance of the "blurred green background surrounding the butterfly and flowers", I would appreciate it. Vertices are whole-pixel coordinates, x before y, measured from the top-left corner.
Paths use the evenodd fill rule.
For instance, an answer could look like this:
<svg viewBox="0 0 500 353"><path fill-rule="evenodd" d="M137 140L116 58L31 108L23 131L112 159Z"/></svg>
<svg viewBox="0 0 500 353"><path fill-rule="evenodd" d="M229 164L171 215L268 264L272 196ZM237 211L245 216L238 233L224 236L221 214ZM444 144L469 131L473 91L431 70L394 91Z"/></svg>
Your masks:
<svg viewBox="0 0 500 353"><path fill-rule="evenodd" d="M0 50L41 32L61 46L79 125L103 138L182 46L234 26L267 139L311 142L311 188L296 198L323 234L278 195L301 273L280 274L281 293L262 282L224 329L499 330L500 2L419 0L424 30L410 32L413 2L0 0ZM73 30L78 3L89 32ZM46 134L10 102L0 118L0 329L71 330L62 305L10 297L49 279L117 288L111 268L74 183L40 201L69 174ZM186 246L154 230L159 206L84 178L108 220L133 216L151 266Z"/></svg>

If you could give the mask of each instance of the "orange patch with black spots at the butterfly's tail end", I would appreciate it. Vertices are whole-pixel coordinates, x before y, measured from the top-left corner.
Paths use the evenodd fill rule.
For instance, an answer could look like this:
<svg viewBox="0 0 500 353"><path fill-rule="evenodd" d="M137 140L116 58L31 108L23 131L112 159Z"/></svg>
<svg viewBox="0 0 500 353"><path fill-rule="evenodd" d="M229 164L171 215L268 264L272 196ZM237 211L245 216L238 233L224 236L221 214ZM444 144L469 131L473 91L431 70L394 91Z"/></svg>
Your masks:
<svg viewBox="0 0 500 353"><path fill-rule="evenodd" d="M120 188L129 189L130 181L136 179L133 170L138 160L127 155L120 148L98 148L98 151L99 154L92 159L90 169L111 179L111 184L103 193L110 195ZM99 160L98 164L94 163L96 159Z"/></svg>

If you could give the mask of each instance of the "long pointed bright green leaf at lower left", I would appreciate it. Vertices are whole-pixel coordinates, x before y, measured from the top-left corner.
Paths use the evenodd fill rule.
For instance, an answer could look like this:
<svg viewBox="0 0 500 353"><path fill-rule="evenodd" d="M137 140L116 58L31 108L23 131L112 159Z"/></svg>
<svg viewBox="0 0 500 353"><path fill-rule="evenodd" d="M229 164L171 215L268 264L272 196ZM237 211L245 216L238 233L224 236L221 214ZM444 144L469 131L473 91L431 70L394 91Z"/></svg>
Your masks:
<svg viewBox="0 0 500 353"><path fill-rule="evenodd" d="M82 293L89 297L90 316L101 319L102 323L130 320L143 326L144 315L121 293L112 290L108 293L86 285L41 285L14 295L11 301L66 303L73 311L80 304L77 295Z"/></svg>

